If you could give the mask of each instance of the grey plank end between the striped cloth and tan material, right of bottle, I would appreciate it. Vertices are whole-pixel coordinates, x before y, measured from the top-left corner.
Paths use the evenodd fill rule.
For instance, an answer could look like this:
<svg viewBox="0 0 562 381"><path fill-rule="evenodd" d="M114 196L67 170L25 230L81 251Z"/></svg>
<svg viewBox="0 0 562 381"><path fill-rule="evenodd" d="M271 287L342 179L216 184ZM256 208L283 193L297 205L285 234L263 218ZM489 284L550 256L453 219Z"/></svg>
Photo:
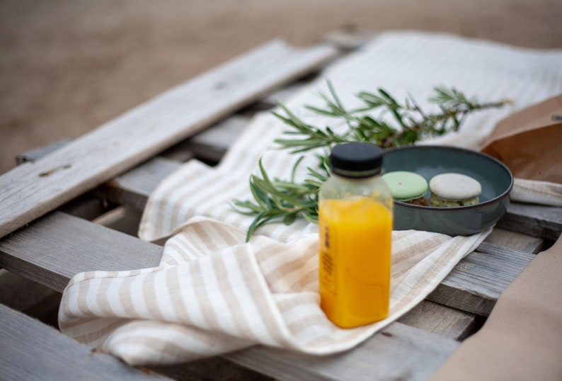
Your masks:
<svg viewBox="0 0 562 381"><path fill-rule="evenodd" d="M483 242L453 268L428 300L488 316L501 292L532 258L534 254Z"/></svg>

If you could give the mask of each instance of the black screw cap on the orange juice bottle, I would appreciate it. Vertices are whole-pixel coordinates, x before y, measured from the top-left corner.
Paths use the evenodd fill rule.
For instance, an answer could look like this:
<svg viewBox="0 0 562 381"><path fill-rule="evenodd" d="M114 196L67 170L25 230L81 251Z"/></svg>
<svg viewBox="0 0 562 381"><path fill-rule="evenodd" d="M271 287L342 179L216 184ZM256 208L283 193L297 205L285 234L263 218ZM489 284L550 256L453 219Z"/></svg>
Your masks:
<svg viewBox="0 0 562 381"><path fill-rule="evenodd" d="M369 143L350 142L337 144L330 154L333 174L365 178L380 174L382 149Z"/></svg>

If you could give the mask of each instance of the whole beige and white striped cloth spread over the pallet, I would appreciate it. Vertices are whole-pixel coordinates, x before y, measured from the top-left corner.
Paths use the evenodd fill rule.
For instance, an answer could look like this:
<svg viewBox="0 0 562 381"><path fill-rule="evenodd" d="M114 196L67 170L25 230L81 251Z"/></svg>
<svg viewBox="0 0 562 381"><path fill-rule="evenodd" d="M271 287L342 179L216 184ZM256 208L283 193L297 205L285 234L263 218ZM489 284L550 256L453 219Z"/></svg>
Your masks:
<svg viewBox="0 0 562 381"><path fill-rule="evenodd" d="M356 104L355 93L378 87L397 98L411 93L422 107L439 84L481 101L513 98L513 106L472 115L459 133L432 141L477 149L508 113L562 92L562 51L387 33L345 57L324 78L350 107ZM319 105L319 90L326 91L324 79L287 106L309 123L333 123L303 107ZM304 220L269 224L245 243L252 217L231 207L231 200L250 197L248 177L260 157L268 173L287 178L296 157L273 144L284 129L272 115L260 115L219 166L190 161L166 178L149 198L139 229L143 239L171 237L161 266L74 276L59 310L61 330L134 365L178 363L258 343L336 353L408 312L488 234L393 232L389 317L338 329L319 308L316 225ZM532 191L532 183L525 186Z"/></svg>

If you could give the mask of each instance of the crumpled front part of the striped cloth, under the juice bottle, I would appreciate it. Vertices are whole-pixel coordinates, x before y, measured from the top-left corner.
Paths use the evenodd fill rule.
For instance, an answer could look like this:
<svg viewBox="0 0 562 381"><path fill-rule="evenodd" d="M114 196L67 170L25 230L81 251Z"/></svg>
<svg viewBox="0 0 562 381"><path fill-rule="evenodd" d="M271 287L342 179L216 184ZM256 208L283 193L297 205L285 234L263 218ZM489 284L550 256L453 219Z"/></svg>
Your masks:
<svg viewBox="0 0 562 381"><path fill-rule="evenodd" d="M340 329L319 306L316 234L245 243L240 230L195 217L166 243L163 266L76 275L64 290L59 326L133 365L178 363L255 344L337 353L418 304L489 232L393 232L389 318ZM180 240L195 244L178 246Z"/></svg>

